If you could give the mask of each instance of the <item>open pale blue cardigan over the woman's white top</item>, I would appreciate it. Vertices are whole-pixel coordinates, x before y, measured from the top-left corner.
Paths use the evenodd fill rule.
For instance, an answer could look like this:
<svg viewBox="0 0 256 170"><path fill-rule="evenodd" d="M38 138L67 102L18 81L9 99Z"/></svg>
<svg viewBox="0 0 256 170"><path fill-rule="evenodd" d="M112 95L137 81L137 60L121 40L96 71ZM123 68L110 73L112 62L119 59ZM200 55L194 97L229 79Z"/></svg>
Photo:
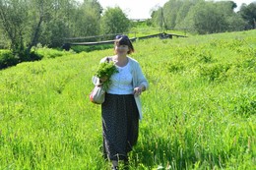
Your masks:
<svg viewBox="0 0 256 170"><path fill-rule="evenodd" d="M111 61L112 57L108 57ZM100 63L102 62L106 62L107 57L104 57L100 60ZM140 64L138 63L138 61L136 61L135 59L128 57L131 68L132 68L132 75L133 75L133 88L140 86L140 85L144 85L146 87L146 89L149 88L149 83L147 81L147 79L145 78L145 76L142 73L142 69ZM138 111L139 111L139 116L140 116L140 120L142 120L142 102L141 102L141 98L140 96L135 96L135 102L137 104L138 107Z"/></svg>

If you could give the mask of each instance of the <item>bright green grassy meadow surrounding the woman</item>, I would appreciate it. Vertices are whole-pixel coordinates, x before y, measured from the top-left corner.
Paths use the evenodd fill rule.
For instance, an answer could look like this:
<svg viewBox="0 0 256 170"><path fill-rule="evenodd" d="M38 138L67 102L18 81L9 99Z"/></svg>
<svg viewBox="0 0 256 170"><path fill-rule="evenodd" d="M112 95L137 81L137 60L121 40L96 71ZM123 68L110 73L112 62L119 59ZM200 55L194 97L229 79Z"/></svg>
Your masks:
<svg viewBox="0 0 256 170"><path fill-rule="evenodd" d="M134 42L150 89L130 169L255 169L255 37ZM0 71L1 170L109 169L89 93L100 58L112 54L67 53Z"/></svg>

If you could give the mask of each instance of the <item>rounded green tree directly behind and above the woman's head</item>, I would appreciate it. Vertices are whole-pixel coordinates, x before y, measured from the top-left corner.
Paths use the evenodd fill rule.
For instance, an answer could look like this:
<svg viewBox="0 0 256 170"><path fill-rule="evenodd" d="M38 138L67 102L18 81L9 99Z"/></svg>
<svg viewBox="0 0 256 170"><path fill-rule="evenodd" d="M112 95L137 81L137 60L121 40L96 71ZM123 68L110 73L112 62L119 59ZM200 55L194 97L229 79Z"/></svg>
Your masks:
<svg viewBox="0 0 256 170"><path fill-rule="evenodd" d="M101 18L101 30L104 34L128 31L130 21L119 7L107 8Z"/></svg>

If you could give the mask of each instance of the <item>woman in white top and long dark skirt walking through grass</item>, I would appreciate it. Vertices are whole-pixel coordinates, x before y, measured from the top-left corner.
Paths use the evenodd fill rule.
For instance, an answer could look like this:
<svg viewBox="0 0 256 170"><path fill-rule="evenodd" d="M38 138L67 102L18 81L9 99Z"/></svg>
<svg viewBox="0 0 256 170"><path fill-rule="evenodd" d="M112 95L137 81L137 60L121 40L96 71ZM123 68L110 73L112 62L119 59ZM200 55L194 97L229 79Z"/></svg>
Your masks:
<svg viewBox="0 0 256 170"><path fill-rule="evenodd" d="M127 35L116 36L114 50L114 56L100 61L113 61L118 70L109 78L111 85L101 104L103 151L111 160L113 170L118 169L119 160L128 163L127 153L138 140L139 119L142 118L140 95L148 88L139 63L128 56L134 48Z"/></svg>

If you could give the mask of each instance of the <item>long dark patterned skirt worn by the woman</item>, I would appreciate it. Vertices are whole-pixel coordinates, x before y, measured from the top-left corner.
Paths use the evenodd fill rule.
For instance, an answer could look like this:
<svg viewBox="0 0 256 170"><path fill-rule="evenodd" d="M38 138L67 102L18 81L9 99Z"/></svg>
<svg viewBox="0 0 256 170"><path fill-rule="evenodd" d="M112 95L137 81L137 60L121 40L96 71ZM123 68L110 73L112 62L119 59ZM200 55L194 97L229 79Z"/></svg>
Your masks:
<svg viewBox="0 0 256 170"><path fill-rule="evenodd" d="M134 96L106 93L101 114L105 158L128 160L127 153L136 144L139 132L139 112Z"/></svg>

